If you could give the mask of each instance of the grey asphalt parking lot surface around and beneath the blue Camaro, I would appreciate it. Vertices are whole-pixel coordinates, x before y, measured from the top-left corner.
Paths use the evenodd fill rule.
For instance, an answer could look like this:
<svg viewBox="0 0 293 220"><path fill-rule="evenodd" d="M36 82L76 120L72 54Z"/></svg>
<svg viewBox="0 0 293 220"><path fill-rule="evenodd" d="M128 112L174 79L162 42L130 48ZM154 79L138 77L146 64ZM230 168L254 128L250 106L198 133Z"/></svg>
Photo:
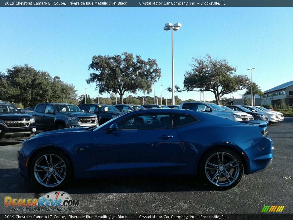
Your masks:
<svg viewBox="0 0 293 220"><path fill-rule="evenodd" d="M265 205L283 205L282 213L293 213L293 117L268 131L275 147L272 167L244 175L233 189L214 191L190 177L74 181L63 189L80 200L70 213L261 213ZM32 213L11 211L3 205L5 196L28 199L48 193L17 173L19 147L0 146L0 213Z"/></svg>

